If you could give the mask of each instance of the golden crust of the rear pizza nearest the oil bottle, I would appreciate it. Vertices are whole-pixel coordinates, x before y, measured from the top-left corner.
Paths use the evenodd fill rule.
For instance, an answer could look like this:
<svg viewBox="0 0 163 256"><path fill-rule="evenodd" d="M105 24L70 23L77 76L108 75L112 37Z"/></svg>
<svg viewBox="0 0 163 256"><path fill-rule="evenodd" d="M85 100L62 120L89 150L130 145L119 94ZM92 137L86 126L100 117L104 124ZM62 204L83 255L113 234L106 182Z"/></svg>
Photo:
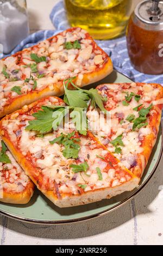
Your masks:
<svg viewBox="0 0 163 256"><path fill-rule="evenodd" d="M75 29L77 28L70 28L70 29L67 29L66 32L71 32L71 31L73 32ZM60 36L61 34L63 34L63 32L53 36L52 38L47 39L47 41L51 42L54 38L56 38L57 36ZM96 47L97 51L100 50L102 52L103 56L105 56L105 62L103 63L102 67L97 66L96 69L93 70L92 72L83 74L82 79L80 79L80 73L79 73L76 76L77 77L76 80L74 80L77 82L77 85L79 87L83 87L83 86L86 86L87 84L102 80L104 77L109 75L113 70L112 62L109 56L107 56L107 54L96 45L95 41L93 41L93 39L89 34L87 34L87 38L92 41L92 45L93 47ZM26 53L29 50L32 52L36 47L37 46L33 46L29 49L28 48L24 49L23 51L14 54L12 57L17 57L19 55L21 56L22 53L24 52ZM1 75L1 72L0 72L0 75ZM43 97L52 96L52 95L61 96L62 94L64 94L63 80L59 80L56 83L51 83L50 85L47 84L47 86L45 86L44 88L33 89L32 91L26 94L17 95L16 97L11 97L10 101L6 105L4 105L3 108L1 108L0 106L0 118L3 117L4 115L7 115L9 113L16 111L17 109L21 109L24 105L29 105L34 101L42 99Z"/></svg>

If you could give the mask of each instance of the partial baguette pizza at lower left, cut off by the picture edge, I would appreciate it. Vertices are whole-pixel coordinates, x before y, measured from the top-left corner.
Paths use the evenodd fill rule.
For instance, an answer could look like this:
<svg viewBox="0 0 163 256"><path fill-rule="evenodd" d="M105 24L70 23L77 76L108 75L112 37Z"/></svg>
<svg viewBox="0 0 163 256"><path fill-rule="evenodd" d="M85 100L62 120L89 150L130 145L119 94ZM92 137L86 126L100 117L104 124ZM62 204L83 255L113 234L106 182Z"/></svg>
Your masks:
<svg viewBox="0 0 163 256"><path fill-rule="evenodd" d="M0 139L0 202L27 204L34 184Z"/></svg>

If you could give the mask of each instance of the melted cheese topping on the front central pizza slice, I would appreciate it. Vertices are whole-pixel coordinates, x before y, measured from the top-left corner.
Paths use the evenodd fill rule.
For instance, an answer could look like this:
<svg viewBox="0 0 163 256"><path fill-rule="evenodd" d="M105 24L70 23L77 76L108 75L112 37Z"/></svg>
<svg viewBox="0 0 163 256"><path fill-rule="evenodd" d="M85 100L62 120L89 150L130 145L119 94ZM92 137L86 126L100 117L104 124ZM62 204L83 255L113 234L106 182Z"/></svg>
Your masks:
<svg viewBox="0 0 163 256"><path fill-rule="evenodd" d="M49 97L51 101L53 97ZM47 102L47 100L46 100ZM52 102L54 104L54 102ZM55 102L57 105L58 103ZM42 105L45 102L42 101ZM38 106L37 106L37 109ZM10 115L11 117L11 115ZM27 131L26 126L28 120L31 119L30 112L26 112L26 121L24 114L19 114L15 119L9 118L8 123L5 123L5 129L12 141L12 134L16 135L17 125L20 126L21 137L17 139L15 147L30 163L38 170L40 175L43 175L42 182L39 184L41 190L53 190L60 198L62 193L81 194L84 191L93 191L97 188L114 187L123 184L132 179L130 173L114 160L110 163L110 153L104 150L96 140L89 135L77 135L80 141L78 159L66 159L62 153L65 149L64 145L57 143L50 144L54 138L60 136L62 129L48 133L44 137L37 137L35 131ZM15 124L15 125L14 125ZM65 134L72 132L72 129L64 131ZM104 159L98 157L101 156ZM89 168L87 172L74 173L71 164L81 164L87 162ZM102 180L99 179L97 169L101 170ZM86 185L84 188L78 185Z"/></svg>

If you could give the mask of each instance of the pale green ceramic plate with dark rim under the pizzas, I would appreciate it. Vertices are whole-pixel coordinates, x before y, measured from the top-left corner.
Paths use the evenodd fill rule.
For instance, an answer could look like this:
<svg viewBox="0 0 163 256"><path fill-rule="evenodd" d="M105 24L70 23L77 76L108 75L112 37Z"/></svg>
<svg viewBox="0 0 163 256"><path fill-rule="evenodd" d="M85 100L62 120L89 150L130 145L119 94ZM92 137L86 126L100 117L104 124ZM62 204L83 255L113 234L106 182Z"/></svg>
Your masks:
<svg viewBox="0 0 163 256"><path fill-rule="evenodd" d="M126 76L114 71L103 81L96 84L91 84L89 87L95 87L101 83L113 82L131 82ZM38 224L61 224L77 221L84 221L89 218L97 217L112 211L128 200L133 198L151 179L154 174L162 154L162 129L160 128L158 140L153 149L150 161L143 174L141 184L138 188L131 192L125 192L120 196L116 196L109 200L101 202L77 206L73 208L60 209L51 203L39 191L35 191L33 198L27 205L9 205L0 203L0 213L15 218L20 221L38 223Z"/></svg>

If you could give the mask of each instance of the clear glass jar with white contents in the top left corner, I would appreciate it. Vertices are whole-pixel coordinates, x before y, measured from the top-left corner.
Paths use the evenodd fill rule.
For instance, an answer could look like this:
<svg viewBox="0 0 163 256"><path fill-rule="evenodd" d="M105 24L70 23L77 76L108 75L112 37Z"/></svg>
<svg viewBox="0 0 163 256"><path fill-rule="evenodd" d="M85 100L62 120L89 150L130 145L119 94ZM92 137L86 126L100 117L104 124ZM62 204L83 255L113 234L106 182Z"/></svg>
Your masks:
<svg viewBox="0 0 163 256"><path fill-rule="evenodd" d="M29 35L26 0L0 0L0 35L5 54Z"/></svg>

